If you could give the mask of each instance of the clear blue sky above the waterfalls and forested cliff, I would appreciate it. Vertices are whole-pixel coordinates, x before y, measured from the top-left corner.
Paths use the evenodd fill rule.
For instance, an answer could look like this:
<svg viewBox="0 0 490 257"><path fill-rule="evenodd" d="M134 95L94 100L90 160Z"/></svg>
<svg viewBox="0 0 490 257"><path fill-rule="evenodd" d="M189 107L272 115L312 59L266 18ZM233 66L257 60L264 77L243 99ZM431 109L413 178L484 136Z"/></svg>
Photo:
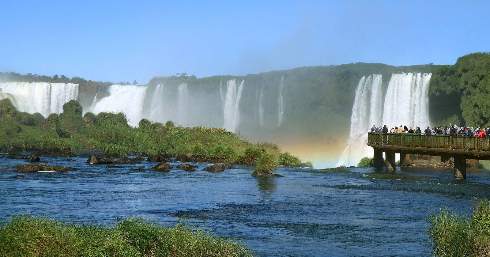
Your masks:
<svg viewBox="0 0 490 257"><path fill-rule="evenodd" d="M490 51L490 1L0 1L0 72L147 83Z"/></svg>

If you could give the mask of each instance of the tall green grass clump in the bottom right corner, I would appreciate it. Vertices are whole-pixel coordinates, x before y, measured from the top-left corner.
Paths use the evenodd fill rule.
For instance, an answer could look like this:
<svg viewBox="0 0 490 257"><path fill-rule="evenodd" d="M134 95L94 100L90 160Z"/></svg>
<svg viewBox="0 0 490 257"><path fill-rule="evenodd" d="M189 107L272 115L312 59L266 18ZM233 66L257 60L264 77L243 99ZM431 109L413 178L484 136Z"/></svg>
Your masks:
<svg viewBox="0 0 490 257"><path fill-rule="evenodd" d="M490 256L490 202L479 201L470 218L441 208L429 215L429 243L433 256Z"/></svg>

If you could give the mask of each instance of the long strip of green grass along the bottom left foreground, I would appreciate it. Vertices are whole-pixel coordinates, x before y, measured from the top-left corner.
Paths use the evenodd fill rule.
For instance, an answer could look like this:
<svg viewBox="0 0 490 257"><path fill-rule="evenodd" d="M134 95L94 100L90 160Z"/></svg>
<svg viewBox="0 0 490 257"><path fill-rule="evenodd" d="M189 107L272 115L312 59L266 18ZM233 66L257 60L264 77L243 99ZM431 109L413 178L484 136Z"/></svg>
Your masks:
<svg viewBox="0 0 490 257"><path fill-rule="evenodd" d="M178 222L161 227L140 217L114 225L15 216L0 223L0 256L250 257L230 239Z"/></svg>

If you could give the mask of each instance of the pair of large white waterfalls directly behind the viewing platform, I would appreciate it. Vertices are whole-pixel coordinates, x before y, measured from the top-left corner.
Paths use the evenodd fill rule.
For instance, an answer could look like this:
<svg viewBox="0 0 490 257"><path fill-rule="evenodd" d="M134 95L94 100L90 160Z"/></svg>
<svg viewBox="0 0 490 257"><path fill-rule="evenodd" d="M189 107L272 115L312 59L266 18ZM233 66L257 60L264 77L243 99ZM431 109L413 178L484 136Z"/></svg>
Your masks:
<svg viewBox="0 0 490 257"><path fill-rule="evenodd" d="M372 76L372 83L369 82L371 76L359 81L349 140L337 165L356 165L362 157L373 155L372 148L367 146L368 131L373 124L387 125L388 128L403 125L414 130L416 126L430 125L428 86L431 73L392 74L384 101L381 101L381 75ZM379 81L374 82L378 76Z"/></svg>

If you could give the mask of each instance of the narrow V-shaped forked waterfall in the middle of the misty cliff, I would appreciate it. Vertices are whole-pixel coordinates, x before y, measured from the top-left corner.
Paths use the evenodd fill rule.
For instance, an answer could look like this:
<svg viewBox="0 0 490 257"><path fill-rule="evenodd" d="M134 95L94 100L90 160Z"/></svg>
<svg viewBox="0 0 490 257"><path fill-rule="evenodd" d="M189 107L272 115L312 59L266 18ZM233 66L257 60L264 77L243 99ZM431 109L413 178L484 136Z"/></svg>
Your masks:
<svg viewBox="0 0 490 257"><path fill-rule="evenodd" d="M221 107L223 108L223 128L235 132L240 123L239 103L242 97L244 81L238 86L237 79L230 79L227 82L226 93L220 81Z"/></svg>

